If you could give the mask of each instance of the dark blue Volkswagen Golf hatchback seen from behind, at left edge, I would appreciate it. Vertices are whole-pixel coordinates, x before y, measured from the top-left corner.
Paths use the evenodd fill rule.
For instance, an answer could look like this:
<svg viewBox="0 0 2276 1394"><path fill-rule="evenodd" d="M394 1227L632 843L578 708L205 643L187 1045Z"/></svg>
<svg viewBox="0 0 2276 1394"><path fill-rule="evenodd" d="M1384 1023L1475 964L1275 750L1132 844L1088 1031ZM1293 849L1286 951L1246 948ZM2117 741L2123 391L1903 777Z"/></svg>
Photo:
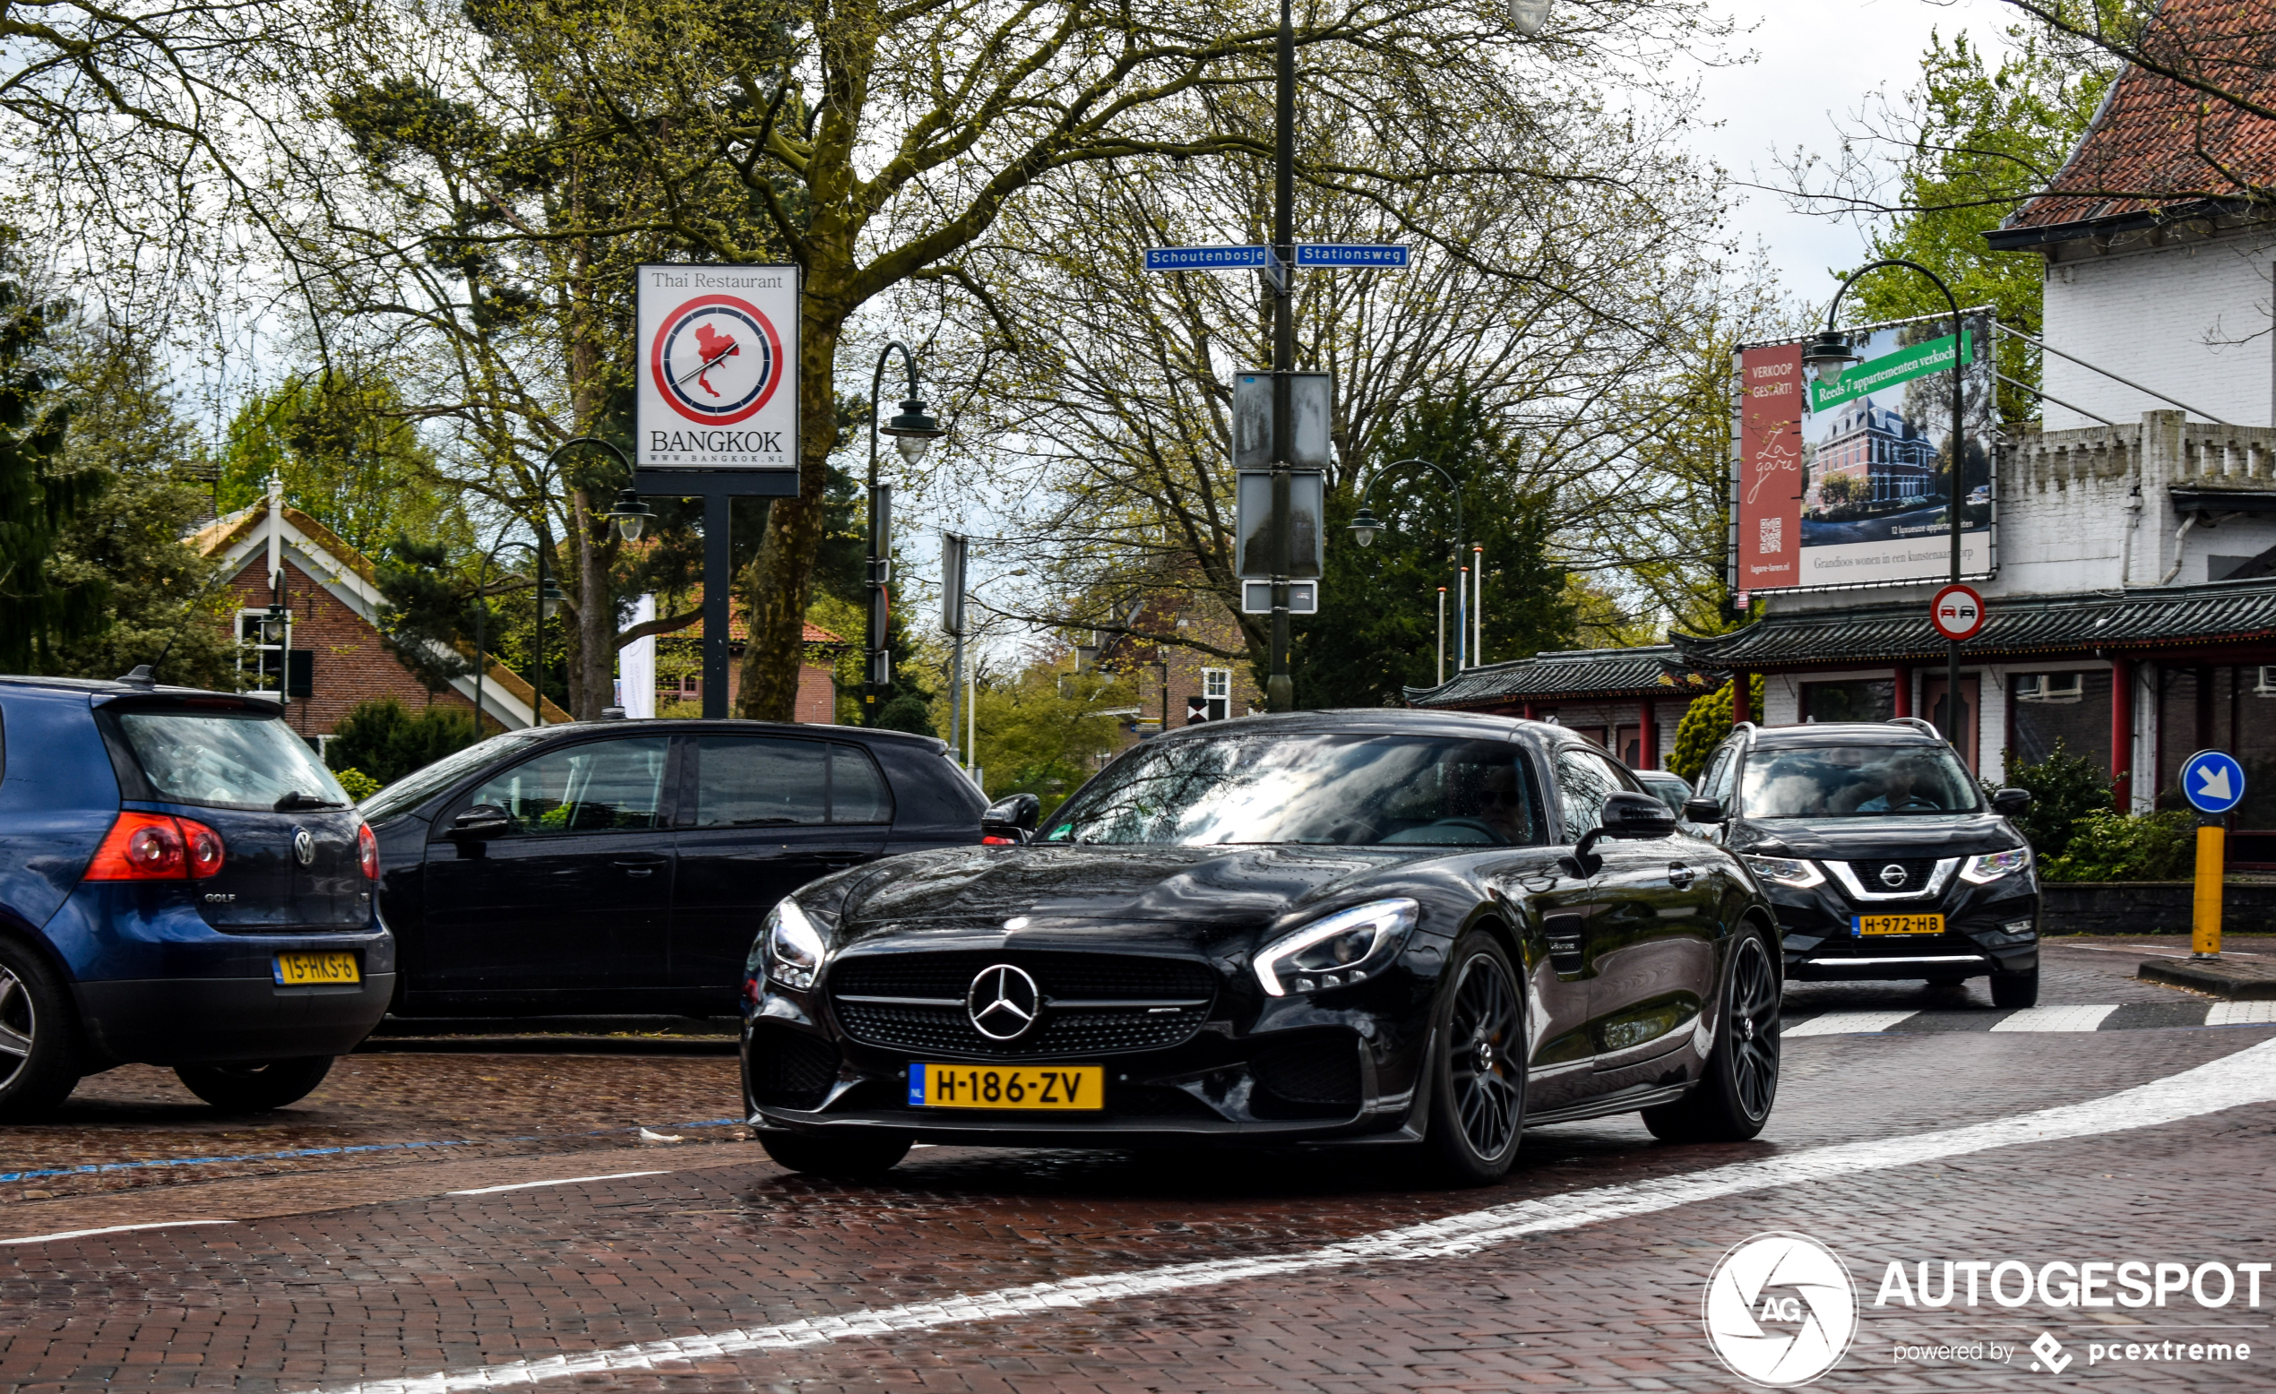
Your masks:
<svg viewBox="0 0 2276 1394"><path fill-rule="evenodd" d="M282 1107L387 1012L380 850L264 698L0 678L0 1119L114 1064Z"/></svg>

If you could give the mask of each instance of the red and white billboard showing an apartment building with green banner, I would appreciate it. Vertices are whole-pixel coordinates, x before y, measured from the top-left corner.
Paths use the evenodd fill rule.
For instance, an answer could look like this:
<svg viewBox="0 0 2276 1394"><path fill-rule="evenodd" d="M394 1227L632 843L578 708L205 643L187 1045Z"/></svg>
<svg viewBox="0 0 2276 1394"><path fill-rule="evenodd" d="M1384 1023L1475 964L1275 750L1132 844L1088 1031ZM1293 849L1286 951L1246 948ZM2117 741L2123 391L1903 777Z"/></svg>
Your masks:
<svg viewBox="0 0 2276 1394"><path fill-rule="evenodd" d="M1996 559L1989 309L1964 314L1962 575ZM1732 589L1816 591L1951 578L1951 316L1846 330L1864 357L1803 375L1803 341L1732 355Z"/></svg>

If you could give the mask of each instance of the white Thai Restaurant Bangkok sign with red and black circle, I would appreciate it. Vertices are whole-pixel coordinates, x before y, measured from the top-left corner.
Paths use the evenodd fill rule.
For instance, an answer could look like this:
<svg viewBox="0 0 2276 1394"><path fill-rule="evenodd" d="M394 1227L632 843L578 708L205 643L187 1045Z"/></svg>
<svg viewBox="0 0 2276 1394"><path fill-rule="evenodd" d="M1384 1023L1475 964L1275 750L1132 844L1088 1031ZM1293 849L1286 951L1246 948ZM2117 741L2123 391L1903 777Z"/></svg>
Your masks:
<svg viewBox="0 0 2276 1394"><path fill-rule="evenodd" d="M642 266L642 468L799 468L799 268Z"/></svg>

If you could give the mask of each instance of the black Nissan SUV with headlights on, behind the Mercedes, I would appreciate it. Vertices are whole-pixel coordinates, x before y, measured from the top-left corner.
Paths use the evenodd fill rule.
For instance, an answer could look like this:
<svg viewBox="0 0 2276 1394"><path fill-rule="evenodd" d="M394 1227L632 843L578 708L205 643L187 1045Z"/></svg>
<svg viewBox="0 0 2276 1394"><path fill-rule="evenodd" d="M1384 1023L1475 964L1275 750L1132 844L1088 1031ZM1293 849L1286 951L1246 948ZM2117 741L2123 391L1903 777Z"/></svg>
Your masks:
<svg viewBox="0 0 2276 1394"><path fill-rule="evenodd" d="M1787 980L1991 978L1991 1001L2039 1001L2039 878L2010 814L1932 725L1739 723L1684 803L1693 832L1737 853L1778 907Z"/></svg>

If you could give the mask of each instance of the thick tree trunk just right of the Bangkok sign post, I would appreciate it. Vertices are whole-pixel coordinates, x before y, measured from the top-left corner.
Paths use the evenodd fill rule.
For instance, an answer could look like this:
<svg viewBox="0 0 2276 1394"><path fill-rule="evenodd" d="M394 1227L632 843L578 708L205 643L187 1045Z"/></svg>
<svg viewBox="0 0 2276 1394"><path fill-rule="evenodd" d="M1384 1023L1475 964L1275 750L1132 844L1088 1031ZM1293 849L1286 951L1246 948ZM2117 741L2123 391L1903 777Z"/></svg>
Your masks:
<svg viewBox="0 0 2276 1394"><path fill-rule="evenodd" d="M810 300L808 300L810 302ZM742 657L735 714L794 721L799 659L806 653L806 603L815 550L822 546L822 496L838 448L838 332L842 316L806 316L799 332L799 496L776 498L758 559L742 571L751 644Z"/></svg>

